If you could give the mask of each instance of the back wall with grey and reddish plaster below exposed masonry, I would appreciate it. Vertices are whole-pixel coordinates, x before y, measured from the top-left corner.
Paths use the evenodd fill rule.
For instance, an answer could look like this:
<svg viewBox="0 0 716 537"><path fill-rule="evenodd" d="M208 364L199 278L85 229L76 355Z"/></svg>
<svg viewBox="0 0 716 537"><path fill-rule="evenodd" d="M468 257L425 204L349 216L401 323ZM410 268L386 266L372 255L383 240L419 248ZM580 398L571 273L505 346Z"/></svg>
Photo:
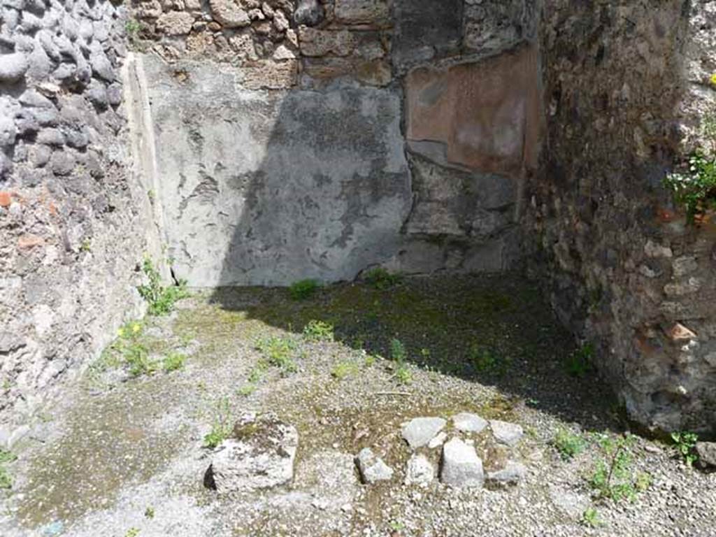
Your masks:
<svg viewBox="0 0 716 537"><path fill-rule="evenodd" d="M175 274L516 267L542 134L534 4L137 2L143 160Z"/></svg>

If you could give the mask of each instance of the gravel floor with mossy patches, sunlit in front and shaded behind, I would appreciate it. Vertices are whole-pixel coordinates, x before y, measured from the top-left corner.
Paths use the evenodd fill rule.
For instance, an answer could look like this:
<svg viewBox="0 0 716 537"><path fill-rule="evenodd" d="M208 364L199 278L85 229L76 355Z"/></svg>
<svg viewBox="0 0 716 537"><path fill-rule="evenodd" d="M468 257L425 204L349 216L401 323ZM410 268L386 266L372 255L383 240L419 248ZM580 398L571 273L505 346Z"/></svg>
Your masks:
<svg viewBox="0 0 716 537"><path fill-rule="evenodd" d="M312 320L334 325L335 341L306 336ZM561 457L559 430L616 439L628 425L593 372L568 374L578 349L517 276L343 284L300 301L283 289L224 289L137 326L120 338L125 349L139 344L157 364L183 354L185 364L132 377L110 349L14 448L1 536L716 536L716 474L687 468L669 446L635 440L628 473L648 478L633 501L590 487L604 458L596 442ZM285 345L267 364L271 337ZM394 339L405 363L392 359ZM296 426L289 485L228 496L203 486L203 438L225 407ZM521 483L403 484L411 451L401 424L458 412L523 427L511 450L471 438L487 470L501 458L524 463ZM364 447L392 480L359 482L353 458ZM440 448L423 452L437 465Z"/></svg>

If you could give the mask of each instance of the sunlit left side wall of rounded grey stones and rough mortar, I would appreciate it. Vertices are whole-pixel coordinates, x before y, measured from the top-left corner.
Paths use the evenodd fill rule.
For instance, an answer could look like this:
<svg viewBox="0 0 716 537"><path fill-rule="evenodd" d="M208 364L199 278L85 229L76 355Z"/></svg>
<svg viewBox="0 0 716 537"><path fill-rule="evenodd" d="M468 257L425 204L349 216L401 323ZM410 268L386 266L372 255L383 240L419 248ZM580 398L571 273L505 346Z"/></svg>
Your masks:
<svg viewBox="0 0 716 537"><path fill-rule="evenodd" d="M0 2L0 445L24 431L9 410L32 413L140 312L125 19L110 1Z"/></svg>

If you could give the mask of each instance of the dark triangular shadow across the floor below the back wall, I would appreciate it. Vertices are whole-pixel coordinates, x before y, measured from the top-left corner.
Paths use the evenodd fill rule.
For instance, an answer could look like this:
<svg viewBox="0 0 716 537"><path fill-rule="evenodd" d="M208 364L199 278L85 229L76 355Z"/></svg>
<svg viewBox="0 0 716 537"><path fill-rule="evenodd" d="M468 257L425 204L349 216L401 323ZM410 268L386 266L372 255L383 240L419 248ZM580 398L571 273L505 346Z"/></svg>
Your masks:
<svg viewBox="0 0 716 537"><path fill-rule="evenodd" d="M623 430L609 387L582 371L584 349L519 274L334 284L302 300L288 289L221 288L211 301L295 334L325 321L337 341L386 358L397 340L417 367L494 386L508 400L584 428Z"/></svg>

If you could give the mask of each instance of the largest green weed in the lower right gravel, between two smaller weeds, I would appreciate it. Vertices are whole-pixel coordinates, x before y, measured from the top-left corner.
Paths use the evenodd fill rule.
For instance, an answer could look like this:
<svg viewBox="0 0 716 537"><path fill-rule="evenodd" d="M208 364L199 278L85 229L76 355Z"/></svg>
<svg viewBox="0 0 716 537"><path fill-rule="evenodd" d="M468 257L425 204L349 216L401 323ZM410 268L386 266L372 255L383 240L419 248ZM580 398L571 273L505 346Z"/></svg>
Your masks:
<svg viewBox="0 0 716 537"><path fill-rule="evenodd" d="M600 498L633 501L644 485L643 478L634 475L632 468L634 437L629 434L616 438L598 435L596 440L605 456L597 461L589 485Z"/></svg>

